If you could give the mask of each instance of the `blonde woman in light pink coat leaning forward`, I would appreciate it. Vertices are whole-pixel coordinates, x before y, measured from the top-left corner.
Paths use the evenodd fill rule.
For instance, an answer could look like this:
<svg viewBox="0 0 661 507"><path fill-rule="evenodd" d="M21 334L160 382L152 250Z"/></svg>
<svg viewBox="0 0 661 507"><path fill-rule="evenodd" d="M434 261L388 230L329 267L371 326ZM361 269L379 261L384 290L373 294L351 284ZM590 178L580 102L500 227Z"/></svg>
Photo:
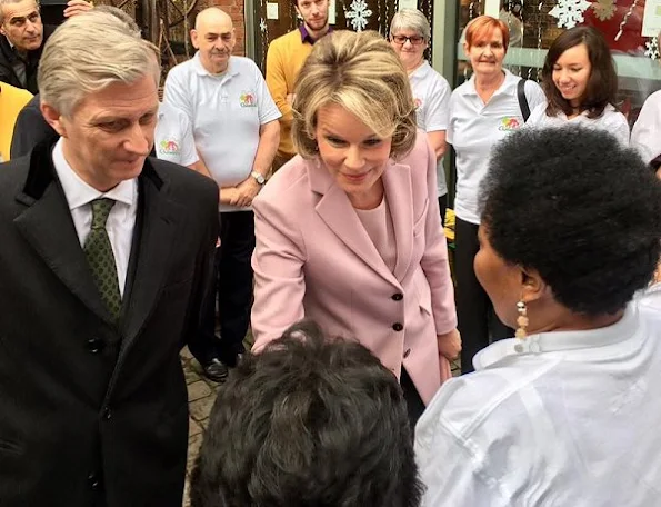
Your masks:
<svg viewBox="0 0 661 507"><path fill-rule="evenodd" d="M314 319L400 377L417 420L461 341L408 76L378 33L337 31L314 44L293 109L300 155L253 201L254 349Z"/></svg>

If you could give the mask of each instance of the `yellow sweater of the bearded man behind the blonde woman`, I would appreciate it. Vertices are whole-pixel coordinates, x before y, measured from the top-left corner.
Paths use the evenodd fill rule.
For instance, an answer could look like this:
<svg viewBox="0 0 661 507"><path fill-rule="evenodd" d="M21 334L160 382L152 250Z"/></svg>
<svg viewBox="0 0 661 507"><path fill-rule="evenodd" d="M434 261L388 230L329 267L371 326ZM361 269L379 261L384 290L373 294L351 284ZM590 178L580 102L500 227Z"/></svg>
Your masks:
<svg viewBox="0 0 661 507"><path fill-rule="evenodd" d="M291 105L287 102L287 95L293 93L296 79L312 52L310 42L301 41L299 29L292 30L269 44L267 52L267 86L278 109L282 113L280 118L280 146L278 155L294 155L291 142Z"/></svg>

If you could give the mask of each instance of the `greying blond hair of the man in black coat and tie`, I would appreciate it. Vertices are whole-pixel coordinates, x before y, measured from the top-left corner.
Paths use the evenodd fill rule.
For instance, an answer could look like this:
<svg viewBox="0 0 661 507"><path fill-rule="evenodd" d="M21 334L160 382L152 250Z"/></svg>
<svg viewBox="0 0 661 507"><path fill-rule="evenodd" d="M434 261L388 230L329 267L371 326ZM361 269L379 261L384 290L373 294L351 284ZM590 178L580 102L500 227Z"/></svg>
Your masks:
<svg viewBox="0 0 661 507"><path fill-rule="evenodd" d="M146 76L158 87L158 49L109 12L69 18L49 38L39 62L41 101L70 117L86 96Z"/></svg>

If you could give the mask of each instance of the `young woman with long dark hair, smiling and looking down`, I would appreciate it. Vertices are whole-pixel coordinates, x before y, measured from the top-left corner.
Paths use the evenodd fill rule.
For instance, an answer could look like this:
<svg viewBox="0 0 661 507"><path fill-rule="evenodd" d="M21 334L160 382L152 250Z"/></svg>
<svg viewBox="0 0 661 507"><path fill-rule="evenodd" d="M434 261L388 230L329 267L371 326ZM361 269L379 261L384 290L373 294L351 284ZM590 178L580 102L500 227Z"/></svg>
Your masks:
<svg viewBox="0 0 661 507"><path fill-rule="evenodd" d="M562 32L549 48L542 68L548 103L535 107L525 126L581 123L607 130L629 145L627 118L613 106L618 73L608 43L593 27Z"/></svg>

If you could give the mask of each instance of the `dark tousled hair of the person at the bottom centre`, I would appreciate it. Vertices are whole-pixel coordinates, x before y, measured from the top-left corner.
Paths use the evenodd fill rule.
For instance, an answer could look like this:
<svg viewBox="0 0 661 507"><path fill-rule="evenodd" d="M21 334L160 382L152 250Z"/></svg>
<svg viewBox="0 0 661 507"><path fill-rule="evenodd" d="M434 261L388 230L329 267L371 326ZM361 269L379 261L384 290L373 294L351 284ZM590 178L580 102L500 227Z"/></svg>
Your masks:
<svg viewBox="0 0 661 507"><path fill-rule="evenodd" d="M193 507L417 507L421 493L397 378L309 321L231 371L191 476Z"/></svg>

